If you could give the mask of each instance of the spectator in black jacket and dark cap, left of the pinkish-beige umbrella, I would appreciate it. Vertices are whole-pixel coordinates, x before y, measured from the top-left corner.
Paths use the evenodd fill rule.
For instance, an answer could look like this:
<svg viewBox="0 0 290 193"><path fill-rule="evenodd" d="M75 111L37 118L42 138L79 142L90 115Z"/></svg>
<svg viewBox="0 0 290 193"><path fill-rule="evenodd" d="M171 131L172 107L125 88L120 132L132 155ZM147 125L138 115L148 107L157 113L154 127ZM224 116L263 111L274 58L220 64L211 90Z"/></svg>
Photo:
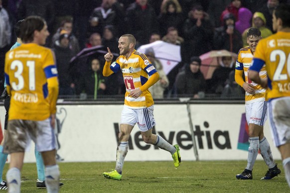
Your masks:
<svg viewBox="0 0 290 193"><path fill-rule="evenodd" d="M176 76L175 89L177 97L200 98L205 92L206 82L200 72L201 60L197 56L190 58L190 63Z"/></svg>

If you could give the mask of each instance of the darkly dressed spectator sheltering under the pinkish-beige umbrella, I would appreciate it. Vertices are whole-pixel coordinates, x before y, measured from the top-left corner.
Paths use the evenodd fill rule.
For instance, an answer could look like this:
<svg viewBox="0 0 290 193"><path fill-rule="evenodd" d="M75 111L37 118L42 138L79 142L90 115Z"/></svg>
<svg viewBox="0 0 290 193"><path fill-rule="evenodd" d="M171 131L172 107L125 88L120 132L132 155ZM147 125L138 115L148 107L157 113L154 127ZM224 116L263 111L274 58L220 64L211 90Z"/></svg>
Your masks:
<svg viewBox="0 0 290 193"><path fill-rule="evenodd" d="M234 68L235 60L231 56L223 56L221 58L221 64L212 74L210 79L210 93L220 95L227 84L227 79Z"/></svg>

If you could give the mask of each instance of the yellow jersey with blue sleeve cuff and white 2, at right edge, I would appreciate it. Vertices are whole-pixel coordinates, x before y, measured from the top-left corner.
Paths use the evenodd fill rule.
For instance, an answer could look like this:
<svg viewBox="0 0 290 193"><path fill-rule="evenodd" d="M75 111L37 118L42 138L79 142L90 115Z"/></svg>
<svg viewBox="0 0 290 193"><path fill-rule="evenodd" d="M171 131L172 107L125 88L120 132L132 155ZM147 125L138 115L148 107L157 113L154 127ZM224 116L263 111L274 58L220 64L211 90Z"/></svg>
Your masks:
<svg viewBox="0 0 290 193"><path fill-rule="evenodd" d="M277 32L259 41L250 70L260 72L266 64L268 97L290 96L290 32Z"/></svg>

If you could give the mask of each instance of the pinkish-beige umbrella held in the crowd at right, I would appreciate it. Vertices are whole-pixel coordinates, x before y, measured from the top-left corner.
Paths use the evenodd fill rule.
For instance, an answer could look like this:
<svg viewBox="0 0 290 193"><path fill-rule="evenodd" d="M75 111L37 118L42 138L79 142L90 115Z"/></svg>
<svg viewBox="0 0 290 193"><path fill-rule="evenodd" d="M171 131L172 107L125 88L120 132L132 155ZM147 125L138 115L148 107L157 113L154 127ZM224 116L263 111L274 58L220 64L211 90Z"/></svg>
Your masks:
<svg viewBox="0 0 290 193"><path fill-rule="evenodd" d="M213 72L219 65L222 66L221 58L223 56L231 56L233 65L238 55L227 50L212 50L199 56L201 60L200 71L206 80L211 79Z"/></svg>

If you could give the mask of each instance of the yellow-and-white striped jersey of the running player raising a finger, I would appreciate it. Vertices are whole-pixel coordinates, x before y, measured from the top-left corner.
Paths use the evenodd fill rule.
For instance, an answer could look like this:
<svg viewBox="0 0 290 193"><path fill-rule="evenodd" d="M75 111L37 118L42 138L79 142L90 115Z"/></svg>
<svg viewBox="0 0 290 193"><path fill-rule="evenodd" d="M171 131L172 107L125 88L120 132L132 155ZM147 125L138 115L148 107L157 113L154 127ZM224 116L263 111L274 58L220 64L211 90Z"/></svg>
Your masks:
<svg viewBox="0 0 290 193"><path fill-rule="evenodd" d="M157 72L144 54L135 50L128 59L121 55L111 64L110 69L115 73L119 70L123 73L126 86L125 105L130 108L145 108L154 104L148 90L138 98L129 97L131 91L140 88L147 82L149 76Z"/></svg>

